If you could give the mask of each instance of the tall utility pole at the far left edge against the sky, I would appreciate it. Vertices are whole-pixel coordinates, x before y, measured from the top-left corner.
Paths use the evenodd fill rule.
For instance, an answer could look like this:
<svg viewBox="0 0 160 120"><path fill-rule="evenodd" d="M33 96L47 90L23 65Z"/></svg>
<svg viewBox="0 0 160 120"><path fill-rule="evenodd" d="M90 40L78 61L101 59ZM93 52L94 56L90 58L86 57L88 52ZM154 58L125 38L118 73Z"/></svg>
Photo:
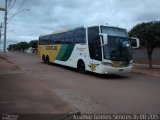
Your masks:
<svg viewBox="0 0 160 120"><path fill-rule="evenodd" d="M3 46L3 52L4 55L6 54L6 37L7 37L7 0L5 0L5 16L4 16L4 46Z"/></svg>

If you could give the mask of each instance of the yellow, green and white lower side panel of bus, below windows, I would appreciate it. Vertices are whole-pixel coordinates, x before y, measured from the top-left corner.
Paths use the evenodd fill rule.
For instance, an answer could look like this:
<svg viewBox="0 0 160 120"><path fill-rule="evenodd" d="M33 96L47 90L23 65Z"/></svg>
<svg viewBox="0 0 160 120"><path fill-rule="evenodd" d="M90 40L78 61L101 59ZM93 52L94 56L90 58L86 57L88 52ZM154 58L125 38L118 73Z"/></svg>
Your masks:
<svg viewBox="0 0 160 120"><path fill-rule="evenodd" d="M50 62L77 68L78 60L83 60L86 71L101 73L100 61L93 63L86 44L39 45L39 57L48 55Z"/></svg>

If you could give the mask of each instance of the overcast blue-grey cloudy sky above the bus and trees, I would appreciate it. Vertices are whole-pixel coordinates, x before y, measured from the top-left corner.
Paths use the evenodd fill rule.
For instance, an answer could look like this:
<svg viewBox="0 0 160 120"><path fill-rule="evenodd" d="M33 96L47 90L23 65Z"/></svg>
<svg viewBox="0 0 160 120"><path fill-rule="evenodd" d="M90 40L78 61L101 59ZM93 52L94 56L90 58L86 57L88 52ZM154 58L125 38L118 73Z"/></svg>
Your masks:
<svg viewBox="0 0 160 120"><path fill-rule="evenodd" d="M0 0L1 8L4 3ZM129 31L138 23L160 20L160 0L8 0L8 6L7 44L84 25L107 23Z"/></svg>

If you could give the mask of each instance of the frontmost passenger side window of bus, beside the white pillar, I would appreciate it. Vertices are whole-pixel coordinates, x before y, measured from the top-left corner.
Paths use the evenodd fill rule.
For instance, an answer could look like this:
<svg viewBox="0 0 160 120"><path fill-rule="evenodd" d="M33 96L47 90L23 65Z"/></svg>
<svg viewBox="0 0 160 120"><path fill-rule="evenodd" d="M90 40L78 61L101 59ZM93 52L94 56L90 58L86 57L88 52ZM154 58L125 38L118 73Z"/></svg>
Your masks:
<svg viewBox="0 0 160 120"><path fill-rule="evenodd" d="M75 42L76 43L86 43L85 28L81 28L75 31Z"/></svg>

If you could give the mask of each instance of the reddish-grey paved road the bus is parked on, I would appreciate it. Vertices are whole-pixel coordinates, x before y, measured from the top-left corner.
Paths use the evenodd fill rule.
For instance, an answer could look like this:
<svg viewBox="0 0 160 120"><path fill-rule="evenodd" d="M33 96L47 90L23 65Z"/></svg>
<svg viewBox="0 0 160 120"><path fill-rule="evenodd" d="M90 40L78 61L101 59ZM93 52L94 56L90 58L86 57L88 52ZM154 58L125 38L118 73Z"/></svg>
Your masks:
<svg viewBox="0 0 160 120"><path fill-rule="evenodd" d="M160 80L133 73L79 74L73 69L43 64L35 55L10 53L28 76L45 85L82 113L159 113ZM25 82L25 84L27 84ZM39 84L37 84L39 86Z"/></svg>

